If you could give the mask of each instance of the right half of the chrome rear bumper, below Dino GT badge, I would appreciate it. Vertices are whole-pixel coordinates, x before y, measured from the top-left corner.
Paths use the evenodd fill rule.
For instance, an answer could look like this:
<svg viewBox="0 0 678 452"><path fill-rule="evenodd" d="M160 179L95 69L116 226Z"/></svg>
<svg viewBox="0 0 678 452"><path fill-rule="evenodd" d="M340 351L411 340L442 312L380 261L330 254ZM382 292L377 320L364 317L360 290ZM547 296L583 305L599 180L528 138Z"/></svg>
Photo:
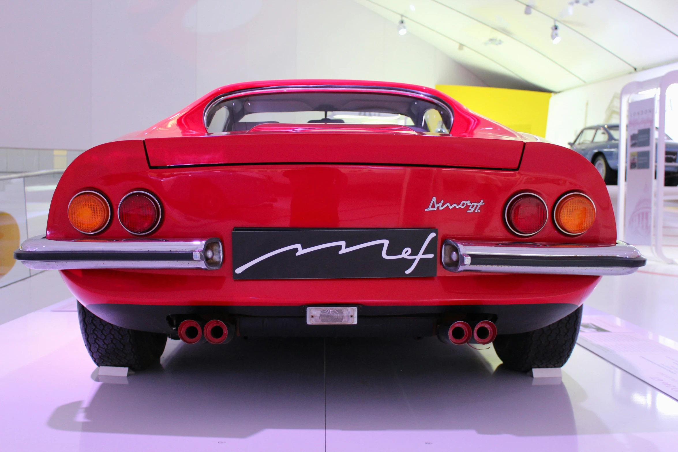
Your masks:
<svg viewBox="0 0 678 452"><path fill-rule="evenodd" d="M447 239L441 252L443 267L450 272L630 274L645 265L632 245L540 246L527 243L494 246L460 243Z"/></svg>

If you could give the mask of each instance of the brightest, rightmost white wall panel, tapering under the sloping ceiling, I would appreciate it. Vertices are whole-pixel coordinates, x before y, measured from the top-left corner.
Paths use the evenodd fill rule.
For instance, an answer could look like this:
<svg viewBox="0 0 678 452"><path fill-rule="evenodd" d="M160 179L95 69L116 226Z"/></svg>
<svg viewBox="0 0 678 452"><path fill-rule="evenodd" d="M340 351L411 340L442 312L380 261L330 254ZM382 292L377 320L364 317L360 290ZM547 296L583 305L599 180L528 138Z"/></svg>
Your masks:
<svg viewBox="0 0 678 452"><path fill-rule="evenodd" d="M296 77L485 86L439 49L353 1L298 0Z"/></svg>

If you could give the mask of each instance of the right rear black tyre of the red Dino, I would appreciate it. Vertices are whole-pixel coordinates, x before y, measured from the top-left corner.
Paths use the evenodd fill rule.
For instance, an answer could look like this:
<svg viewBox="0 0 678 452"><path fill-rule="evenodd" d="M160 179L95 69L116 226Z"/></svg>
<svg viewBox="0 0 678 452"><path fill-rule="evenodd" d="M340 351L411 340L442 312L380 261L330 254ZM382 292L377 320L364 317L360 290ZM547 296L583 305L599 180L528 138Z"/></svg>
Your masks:
<svg viewBox="0 0 678 452"><path fill-rule="evenodd" d="M515 371L562 367L577 342L582 310L580 306L572 314L535 331L498 335L494 350L504 365Z"/></svg>

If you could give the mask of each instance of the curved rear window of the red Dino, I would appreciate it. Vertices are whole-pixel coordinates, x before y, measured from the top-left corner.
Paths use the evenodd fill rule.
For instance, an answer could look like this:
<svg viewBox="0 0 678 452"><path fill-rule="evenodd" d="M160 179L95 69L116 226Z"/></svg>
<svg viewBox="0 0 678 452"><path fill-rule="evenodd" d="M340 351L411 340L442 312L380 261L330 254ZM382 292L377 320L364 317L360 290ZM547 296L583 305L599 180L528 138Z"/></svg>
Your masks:
<svg viewBox="0 0 678 452"><path fill-rule="evenodd" d="M266 123L386 124L449 133L450 110L421 98L361 92L281 92L224 98L208 107L208 133L248 131Z"/></svg>

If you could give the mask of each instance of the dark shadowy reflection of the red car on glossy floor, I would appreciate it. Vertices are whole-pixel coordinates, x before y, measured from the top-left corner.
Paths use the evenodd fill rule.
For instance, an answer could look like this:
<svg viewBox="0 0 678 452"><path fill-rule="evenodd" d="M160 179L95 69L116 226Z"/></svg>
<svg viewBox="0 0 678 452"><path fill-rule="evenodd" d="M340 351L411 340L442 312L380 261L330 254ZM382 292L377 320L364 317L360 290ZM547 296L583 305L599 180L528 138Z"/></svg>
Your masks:
<svg viewBox="0 0 678 452"><path fill-rule="evenodd" d="M172 344L174 345L174 344ZM102 384L85 408L59 407L60 430L244 438L265 429L475 430L573 435L563 384L493 366L434 338L237 339L180 344L163 366ZM538 409L536 409L538 407Z"/></svg>

